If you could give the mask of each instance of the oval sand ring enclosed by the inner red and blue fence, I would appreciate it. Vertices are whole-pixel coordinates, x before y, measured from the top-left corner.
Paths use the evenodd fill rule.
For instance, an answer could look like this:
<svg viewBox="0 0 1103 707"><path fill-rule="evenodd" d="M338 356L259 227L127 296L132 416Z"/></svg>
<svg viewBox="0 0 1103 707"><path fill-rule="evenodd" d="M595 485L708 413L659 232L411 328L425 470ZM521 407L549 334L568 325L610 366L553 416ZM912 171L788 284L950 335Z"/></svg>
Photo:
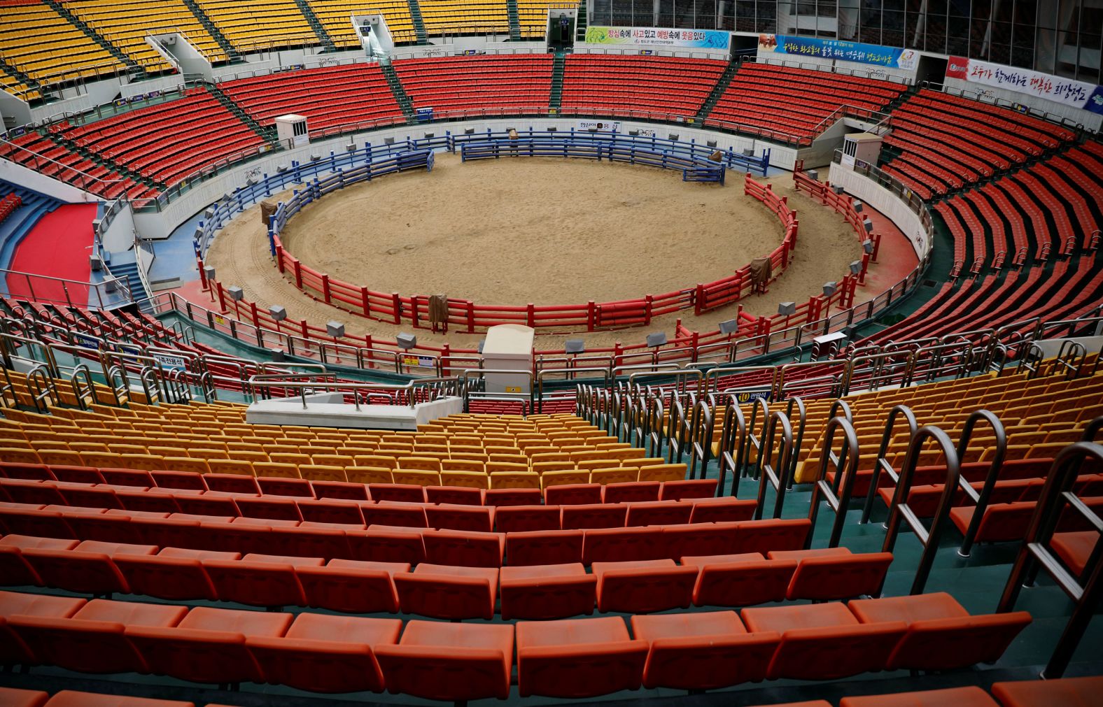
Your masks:
<svg viewBox="0 0 1103 707"><path fill-rule="evenodd" d="M778 217L670 170L503 158L388 175L323 197L281 239L302 265L378 292L579 304L692 288L781 242Z"/></svg>

